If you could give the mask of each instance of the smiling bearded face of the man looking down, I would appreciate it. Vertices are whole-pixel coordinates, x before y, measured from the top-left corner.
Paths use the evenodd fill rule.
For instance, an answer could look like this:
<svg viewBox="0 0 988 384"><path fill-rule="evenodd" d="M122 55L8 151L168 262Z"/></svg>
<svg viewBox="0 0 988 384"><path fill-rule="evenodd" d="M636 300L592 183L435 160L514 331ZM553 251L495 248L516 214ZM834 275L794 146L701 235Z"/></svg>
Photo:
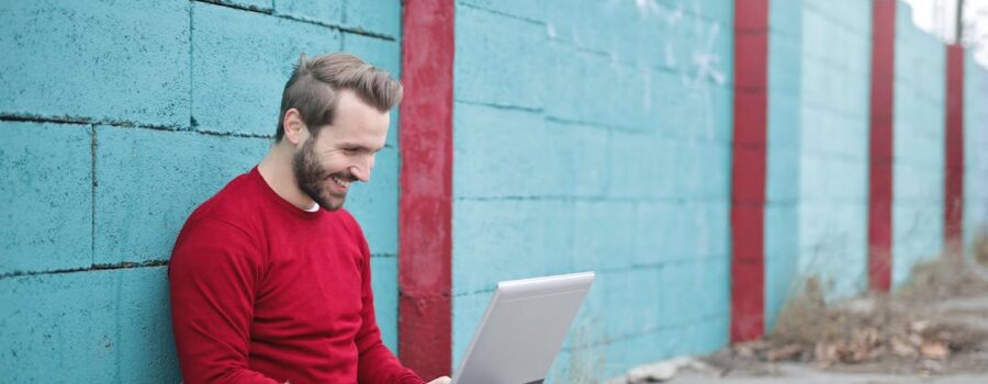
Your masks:
<svg viewBox="0 0 988 384"><path fill-rule="evenodd" d="M355 181L370 180L374 155L384 147L390 117L352 91L339 95L333 124L307 135L292 160L295 180L319 206L339 210Z"/></svg>

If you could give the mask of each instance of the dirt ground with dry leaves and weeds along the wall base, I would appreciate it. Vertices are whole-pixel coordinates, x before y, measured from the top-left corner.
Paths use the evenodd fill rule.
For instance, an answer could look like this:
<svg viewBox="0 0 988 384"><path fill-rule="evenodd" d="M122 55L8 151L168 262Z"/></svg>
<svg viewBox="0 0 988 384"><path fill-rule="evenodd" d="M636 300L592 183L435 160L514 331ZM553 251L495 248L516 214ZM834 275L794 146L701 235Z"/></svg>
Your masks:
<svg viewBox="0 0 988 384"><path fill-rule="evenodd" d="M988 383L988 240L977 249L918 266L890 295L824 303L811 279L771 335L641 366L625 382Z"/></svg>

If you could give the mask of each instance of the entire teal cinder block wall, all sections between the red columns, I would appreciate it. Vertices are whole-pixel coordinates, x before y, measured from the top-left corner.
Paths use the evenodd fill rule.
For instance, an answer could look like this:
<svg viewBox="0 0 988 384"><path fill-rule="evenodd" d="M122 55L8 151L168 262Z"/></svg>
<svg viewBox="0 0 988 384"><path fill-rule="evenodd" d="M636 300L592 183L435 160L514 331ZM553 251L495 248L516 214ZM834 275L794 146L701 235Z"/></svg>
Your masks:
<svg viewBox="0 0 988 384"><path fill-rule="evenodd" d="M177 382L165 279L186 216L255 165L301 50L395 75L401 5L0 5L0 372ZM866 287L871 7L773 0L765 313ZM730 313L731 0L456 3L453 359L495 282L595 270L553 382L712 351ZM942 237L943 46L900 3L895 282ZM30 60L22 58L32 58ZM50 74L57 74L52 76ZM988 225L988 71L966 64L965 234ZM363 225L397 340L397 116Z"/></svg>

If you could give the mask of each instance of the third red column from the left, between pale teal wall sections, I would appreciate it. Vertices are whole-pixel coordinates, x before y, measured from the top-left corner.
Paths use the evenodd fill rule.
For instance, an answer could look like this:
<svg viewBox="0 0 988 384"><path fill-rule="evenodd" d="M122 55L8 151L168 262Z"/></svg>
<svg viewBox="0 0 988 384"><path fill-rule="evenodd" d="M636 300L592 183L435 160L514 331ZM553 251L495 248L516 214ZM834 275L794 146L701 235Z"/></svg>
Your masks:
<svg viewBox="0 0 988 384"><path fill-rule="evenodd" d="M876 291L891 284L896 1L875 0L872 8L868 286Z"/></svg>

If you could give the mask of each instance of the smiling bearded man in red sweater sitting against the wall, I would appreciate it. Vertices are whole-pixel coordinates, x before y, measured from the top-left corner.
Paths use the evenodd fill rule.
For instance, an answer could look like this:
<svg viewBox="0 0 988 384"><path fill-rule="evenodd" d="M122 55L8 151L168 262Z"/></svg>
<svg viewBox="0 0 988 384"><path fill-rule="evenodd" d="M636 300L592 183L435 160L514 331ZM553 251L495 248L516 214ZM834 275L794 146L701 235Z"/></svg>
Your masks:
<svg viewBox="0 0 988 384"><path fill-rule="evenodd" d="M176 240L168 278L187 383L423 383L381 342L370 251L341 210L351 183L370 179L401 99L396 80L356 56L300 59L268 155Z"/></svg>

